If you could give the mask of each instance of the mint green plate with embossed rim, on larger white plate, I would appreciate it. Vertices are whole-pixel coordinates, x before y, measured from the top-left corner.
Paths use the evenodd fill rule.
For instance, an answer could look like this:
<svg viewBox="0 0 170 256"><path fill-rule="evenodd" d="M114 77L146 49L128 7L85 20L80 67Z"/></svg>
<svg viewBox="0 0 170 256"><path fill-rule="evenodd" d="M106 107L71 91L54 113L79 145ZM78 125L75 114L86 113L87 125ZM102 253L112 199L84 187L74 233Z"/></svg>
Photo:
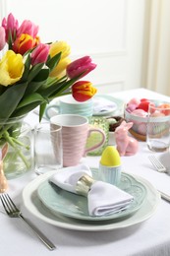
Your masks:
<svg viewBox="0 0 170 256"><path fill-rule="evenodd" d="M62 170L61 170L62 171ZM93 178L97 179L97 169L92 169ZM67 192L56 185L50 184L48 180L42 182L37 188L37 194L41 202L54 214L85 221L105 221L126 217L138 211L142 207L146 197L145 186L132 175L122 172L119 187L134 196L134 201L127 210L119 213L91 217L88 215L87 200L85 197Z"/></svg>

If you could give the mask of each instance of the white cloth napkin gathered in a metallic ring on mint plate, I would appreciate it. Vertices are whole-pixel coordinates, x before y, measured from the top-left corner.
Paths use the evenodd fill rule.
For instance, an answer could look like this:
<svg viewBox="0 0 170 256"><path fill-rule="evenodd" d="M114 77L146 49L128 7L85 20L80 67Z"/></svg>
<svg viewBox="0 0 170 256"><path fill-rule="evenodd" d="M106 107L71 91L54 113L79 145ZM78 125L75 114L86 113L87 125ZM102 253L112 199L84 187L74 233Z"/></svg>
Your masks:
<svg viewBox="0 0 170 256"><path fill-rule="evenodd" d="M78 180L85 174L92 176L85 164L66 167L50 177L50 181L60 188L77 194ZM105 216L127 209L134 197L118 187L103 181L94 181L87 193L89 216Z"/></svg>

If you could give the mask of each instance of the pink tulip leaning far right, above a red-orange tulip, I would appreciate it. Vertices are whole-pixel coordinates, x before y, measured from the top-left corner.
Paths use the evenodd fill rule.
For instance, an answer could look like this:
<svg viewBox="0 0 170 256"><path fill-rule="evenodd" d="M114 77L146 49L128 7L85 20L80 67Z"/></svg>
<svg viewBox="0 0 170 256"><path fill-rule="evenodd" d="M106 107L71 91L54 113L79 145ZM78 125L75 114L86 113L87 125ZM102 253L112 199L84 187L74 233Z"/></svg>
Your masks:
<svg viewBox="0 0 170 256"><path fill-rule="evenodd" d="M87 75L95 67L96 64L91 63L91 58L89 56L85 56L73 61L67 66L67 75L72 79L84 73L81 77L85 77L85 75Z"/></svg>

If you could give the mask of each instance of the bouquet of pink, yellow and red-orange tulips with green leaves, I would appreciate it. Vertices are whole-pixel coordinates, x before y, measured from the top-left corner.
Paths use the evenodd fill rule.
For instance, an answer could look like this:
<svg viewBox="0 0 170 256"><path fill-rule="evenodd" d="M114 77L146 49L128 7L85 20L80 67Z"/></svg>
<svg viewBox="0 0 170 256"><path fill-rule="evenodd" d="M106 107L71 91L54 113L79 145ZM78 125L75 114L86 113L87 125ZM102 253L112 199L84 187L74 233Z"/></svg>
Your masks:
<svg viewBox="0 0 170 256"><path fill-rule="evenodd" d="M41 42L38 26L28 20L21 26L13 14L2 20L0 51L0 141L13 147L16 138L5 125L10 118L25 116L39 106L40 121L46 104L55 97L72 94L85 101L96 93L90 82L82 80L96 67L90 57L71 62L67 42Z"/></svg>

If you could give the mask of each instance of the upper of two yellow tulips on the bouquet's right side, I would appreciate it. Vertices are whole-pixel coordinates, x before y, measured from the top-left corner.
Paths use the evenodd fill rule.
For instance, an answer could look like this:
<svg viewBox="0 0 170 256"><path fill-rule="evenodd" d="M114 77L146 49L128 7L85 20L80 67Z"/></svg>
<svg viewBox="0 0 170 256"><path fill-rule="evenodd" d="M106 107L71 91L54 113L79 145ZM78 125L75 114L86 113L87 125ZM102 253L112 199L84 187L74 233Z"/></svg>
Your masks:
<svg viewBox="0 0 170 256"><path fill-rule="evenodd" d="M51 43L49 54L51 57L54 57L59 52L62 52L61 59L64 59L69 56L71 52L71 47L66 41L55 41Z"/></svg>

